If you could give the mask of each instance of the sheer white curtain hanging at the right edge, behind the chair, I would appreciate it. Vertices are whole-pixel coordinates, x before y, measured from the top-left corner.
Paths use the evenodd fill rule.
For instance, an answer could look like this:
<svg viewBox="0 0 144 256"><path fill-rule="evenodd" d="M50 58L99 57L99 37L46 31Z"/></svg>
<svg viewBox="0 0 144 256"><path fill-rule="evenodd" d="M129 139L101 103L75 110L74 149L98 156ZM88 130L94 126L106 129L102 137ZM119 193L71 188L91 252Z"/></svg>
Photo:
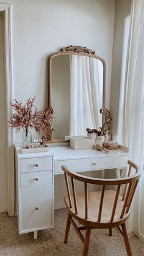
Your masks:
<svg viewBox="0 0 144 256"><path fill-rule="evenodd" d="M123 106L123 140L129 159L143 167L144 156L144 1L132 1L128 70ZM128 230L140 235L141 183L137 188L128 221ZM144 203L144 202L142 202Z"/></svg>

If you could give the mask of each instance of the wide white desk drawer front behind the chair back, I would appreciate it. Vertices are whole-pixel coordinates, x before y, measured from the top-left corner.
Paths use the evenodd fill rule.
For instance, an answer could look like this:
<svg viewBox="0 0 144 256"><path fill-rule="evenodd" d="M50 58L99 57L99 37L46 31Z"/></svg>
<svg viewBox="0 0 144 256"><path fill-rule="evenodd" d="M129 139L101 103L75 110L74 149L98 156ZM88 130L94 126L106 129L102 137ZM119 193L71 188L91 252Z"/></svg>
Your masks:
<svg viewBox="0 0 144 256"><path fill-rule="evenodd" d="M63 173L61 166L65 165L73 171L100 170L123 168L127 166L128 156L109 156L102 158L70 159L55 161L55 173Z"/></svg>

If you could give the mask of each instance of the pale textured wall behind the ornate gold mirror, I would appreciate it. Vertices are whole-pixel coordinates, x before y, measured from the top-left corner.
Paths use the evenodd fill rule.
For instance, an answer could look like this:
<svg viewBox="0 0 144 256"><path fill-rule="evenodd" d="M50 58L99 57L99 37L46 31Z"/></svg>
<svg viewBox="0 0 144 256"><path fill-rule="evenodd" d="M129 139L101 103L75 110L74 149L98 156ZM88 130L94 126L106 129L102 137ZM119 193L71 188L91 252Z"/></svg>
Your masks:
<svg viewBox="0 0 144 256"><path fill-rule="evenodd" d="M63 46L96 51L107 64L106 106L109 108L115 0L2 0L12 4L13 97L48 107L48 56ZM14 132L15 133L15 132ZM37 135L32 131L33 139ZM14 143L21 133L14 134ZM89 173L90 175L90 173ZM60 184L60 186L59 186ZM63 200L62 176L55 177L55 203Z"/></svg>

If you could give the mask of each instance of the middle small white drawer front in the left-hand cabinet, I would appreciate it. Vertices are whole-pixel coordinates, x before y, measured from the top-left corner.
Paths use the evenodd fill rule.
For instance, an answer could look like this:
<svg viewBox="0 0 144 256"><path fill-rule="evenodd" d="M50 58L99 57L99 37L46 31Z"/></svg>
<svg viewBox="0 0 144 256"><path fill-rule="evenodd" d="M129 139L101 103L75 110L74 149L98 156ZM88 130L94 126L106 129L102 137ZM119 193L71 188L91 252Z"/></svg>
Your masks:
<svg viewBox="0 0 144 256"><path fill-rule="evenodd" d="M45 185L52 183L52 170L42 172L26 172L21 174L21 187Z"/></svg>

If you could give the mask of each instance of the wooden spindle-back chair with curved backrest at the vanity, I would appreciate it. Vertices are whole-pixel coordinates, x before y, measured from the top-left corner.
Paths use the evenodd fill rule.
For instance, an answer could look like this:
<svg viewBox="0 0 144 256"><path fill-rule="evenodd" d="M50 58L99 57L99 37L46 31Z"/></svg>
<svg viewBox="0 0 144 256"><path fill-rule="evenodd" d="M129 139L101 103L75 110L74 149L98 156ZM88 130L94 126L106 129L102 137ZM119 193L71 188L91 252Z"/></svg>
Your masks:
<svg viewBox="0 0 144 256"><path fill-rule="evenodd" d="M66 166L62 166L68 192L68 195L64 197L68 208L64 243L67 243L70 225L72 224L82 243L84 243L83 256L88 254L91 229L109 229L109 235L111 236L113 227L118 227L124 236L127 254L132 255L125 222L129 217L129 208L141 172L136 164L131 161L128 161L128 164L128 177L109 180L86 177L72 172ZM134 175L131 175L131 169L134 169ZM70 192L69 180L71 180L72 192ZM84 194L76 193L74 180L84 183ZM88 184L102 185L102 189L101 191L88 192ZM116 191L106 189L106 186L109 188L112 185L113 187L116 186ZM124 186L124 192L123 196L120 196L122 185ZM77 227L74 219L82 224L82 227ZM85 238L81 230L86 230Z"/></svg>

